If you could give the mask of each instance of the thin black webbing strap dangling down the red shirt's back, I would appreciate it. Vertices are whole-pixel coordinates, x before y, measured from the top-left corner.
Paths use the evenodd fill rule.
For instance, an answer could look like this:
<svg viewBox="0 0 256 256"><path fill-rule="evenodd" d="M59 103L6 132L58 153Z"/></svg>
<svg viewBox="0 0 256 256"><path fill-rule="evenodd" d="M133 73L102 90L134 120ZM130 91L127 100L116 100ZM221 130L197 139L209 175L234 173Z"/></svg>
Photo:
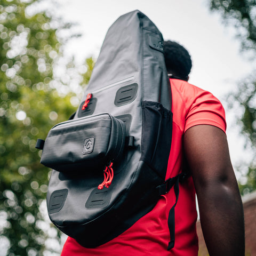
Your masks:
<svg viewBox="0 0 256 256"><path fill-rule="evenodd" d="M174 177L176 178L176 181L174 183L174 193L176 197L176 201L174 205L172 206L170 212L169 212L169 217L168 217L168 227L170 231L170 242L168 244L167 250L171 250L174 247L174 242L175 242L175 205L178 202L179 198L179 179L181 177L181 174L178 176Z"/></svg>

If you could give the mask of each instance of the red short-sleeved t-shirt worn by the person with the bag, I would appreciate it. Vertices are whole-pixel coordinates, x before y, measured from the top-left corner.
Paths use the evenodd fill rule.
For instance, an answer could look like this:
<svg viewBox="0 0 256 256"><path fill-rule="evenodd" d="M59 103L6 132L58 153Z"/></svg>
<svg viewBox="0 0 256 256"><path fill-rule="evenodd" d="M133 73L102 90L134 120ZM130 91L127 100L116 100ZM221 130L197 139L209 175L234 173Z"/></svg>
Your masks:
<svg viewBox="0 0 256 256"><path fill-rule="evenodd" d="M170 79L172 88L173 134L166 179L181 172L182 137L192 126L208 124L226 130L225 111L211 93L178 79ZM197 256L197 211L195 188L191 177L180 185L175 206L175 245L167 251L170 232L169 211L175 203L173 189L163 195L152 211L143 216L123 234L95 249L86 249L68 237L61 256ZM90 236L90 234L88 234Z"/></svg>

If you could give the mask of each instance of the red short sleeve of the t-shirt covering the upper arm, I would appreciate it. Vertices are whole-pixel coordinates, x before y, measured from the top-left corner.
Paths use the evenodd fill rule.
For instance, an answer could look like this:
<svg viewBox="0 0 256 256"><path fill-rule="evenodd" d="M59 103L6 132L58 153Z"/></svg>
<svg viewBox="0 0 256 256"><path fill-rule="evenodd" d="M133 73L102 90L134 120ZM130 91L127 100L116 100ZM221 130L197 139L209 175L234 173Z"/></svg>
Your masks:
<svg viewBox="0 0 256 256"><path fill-rule="evenodd" d="M197 89L197 90L196 90ZM195 88L188 100L190 107L186 115L185 131L200 124L213 125L226 132L225 110L220 101L210 92ZM191 94L190 94L191 96Z"/></svg>

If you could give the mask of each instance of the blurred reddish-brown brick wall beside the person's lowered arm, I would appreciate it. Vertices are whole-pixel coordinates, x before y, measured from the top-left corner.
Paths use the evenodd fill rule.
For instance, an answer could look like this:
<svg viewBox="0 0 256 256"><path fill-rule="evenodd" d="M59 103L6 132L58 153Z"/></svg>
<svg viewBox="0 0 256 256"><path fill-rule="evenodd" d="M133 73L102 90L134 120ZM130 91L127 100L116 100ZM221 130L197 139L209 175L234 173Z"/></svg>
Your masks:
<svg viewBox="0 0 256 256"><path fill-rule="evenodd" d="M245 222L245 255L256 256L256 191L242 198ZM199 256L209 255L204 242L200 221L196 223Z"/></svg>

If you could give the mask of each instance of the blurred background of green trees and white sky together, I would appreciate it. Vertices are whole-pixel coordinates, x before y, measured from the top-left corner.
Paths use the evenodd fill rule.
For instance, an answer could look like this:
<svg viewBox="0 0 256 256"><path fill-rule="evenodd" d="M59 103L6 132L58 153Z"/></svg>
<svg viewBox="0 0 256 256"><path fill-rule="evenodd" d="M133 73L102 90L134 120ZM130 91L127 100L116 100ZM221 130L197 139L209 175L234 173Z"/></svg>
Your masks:
<svg viewBox="0 0 256 256"><path fill-rule="evenodd" d="M226 109L242 195L256 189L256 5L250 0L0 0L0 256L59 255L37 138L76 110L111 24L138 9L191 54Z"/></svg>

